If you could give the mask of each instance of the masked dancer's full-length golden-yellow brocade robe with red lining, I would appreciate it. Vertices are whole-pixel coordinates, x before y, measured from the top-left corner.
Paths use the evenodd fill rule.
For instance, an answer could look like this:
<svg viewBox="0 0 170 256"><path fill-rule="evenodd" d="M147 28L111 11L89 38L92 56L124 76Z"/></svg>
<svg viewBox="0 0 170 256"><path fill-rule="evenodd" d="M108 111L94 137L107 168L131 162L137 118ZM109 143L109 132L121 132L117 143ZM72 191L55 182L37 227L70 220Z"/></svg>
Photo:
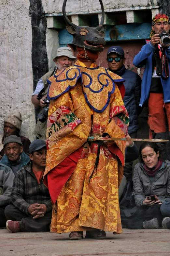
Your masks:
<svg viewBox="0 0 170 256"><path fill-rule="evenodd" d="M100 146L97 171L89 182L98 144L88 143L87 139L104 133L114 138L126 136L129 119L117 86L123 79L95 64L91 68L81 65L77 61L57 77L49 78L52 100L44 182L53 201L51 232L100 229L121 233L118 186L123 175L125 142ZM74 161L74 153L81 147L74 170L66 172L64 177L70 176L59 186L59 166L63 163L63 170L69 169L65 165ZM55 186L59 186L57 198L53 195Z"/></svg>

